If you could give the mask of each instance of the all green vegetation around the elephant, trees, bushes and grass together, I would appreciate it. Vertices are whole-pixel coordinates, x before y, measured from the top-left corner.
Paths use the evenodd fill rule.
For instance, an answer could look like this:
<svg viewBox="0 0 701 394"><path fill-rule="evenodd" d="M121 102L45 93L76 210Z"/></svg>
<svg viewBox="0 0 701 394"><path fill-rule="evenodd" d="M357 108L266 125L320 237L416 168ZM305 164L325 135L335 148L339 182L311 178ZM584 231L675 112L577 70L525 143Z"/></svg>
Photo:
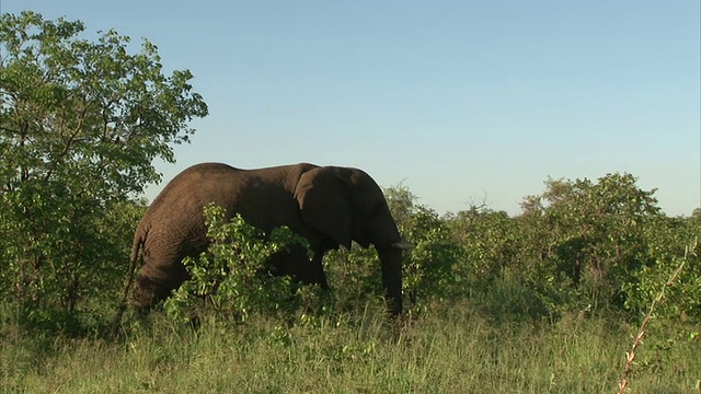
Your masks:
<svg viewBox="0 0 701 394"><path fill-rule="evenodd" d="M699 392L701 210L668 217L621 173L549 178L517 216L386 189L415 245L401 320L374 250L326 256L332 292L299 287L257 268L303 240L208 207L193 280L113 338L138 196L207 106L153 44L84 30L0 18L0 391Z"/></svg>

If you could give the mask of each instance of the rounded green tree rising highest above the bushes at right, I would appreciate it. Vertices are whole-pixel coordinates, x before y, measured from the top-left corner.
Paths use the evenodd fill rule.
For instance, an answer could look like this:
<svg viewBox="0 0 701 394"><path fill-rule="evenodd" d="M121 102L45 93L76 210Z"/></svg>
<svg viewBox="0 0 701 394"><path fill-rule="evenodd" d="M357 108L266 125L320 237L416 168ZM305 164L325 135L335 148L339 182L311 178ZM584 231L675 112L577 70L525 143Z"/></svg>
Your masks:
<svg viewBox="0 0 701 394"><path fill-rule="evenodd" d="M654 197L630 174L589 179L548 179L541 196L528 197L524 220L541 231L542 260L576 308L622 309L623 286L655 263L650 242L664 217Z"/></svg>

